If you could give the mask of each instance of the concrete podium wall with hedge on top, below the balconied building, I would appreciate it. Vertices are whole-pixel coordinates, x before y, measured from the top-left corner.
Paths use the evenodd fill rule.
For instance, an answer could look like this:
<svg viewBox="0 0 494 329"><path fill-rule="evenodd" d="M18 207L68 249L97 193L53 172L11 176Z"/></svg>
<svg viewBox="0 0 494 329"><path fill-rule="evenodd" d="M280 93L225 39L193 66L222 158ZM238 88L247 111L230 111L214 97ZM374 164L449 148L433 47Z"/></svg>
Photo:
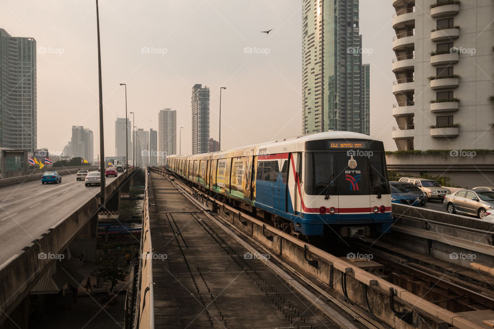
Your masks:
<svg viewBox="0 0 494 329"><path fill-rule="evenodd" d="M458 150L459 151L459 150ZM467 152L467 151L465 151ZM451 183L463 188L494 186L494 154L386 154L387 170L403 176L418 177L422 173L447 176ZM455 156L458 154L458 156Z"/></svg>

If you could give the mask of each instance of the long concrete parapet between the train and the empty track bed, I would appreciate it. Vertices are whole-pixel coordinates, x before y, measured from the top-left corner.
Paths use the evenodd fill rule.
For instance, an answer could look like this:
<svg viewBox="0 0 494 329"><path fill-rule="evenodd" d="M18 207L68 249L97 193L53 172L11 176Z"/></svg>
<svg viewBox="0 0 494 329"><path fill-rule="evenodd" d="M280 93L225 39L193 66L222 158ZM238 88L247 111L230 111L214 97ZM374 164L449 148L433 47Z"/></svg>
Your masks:
<svg viewBox="0 0 494 329"><path fill-rule="evenodd" d="M152 171L156 173L160 173L164 176L172 176L172 173L168 170L162 168L151 168ZM373 275L365 271L364 269L359 268L358 266L346 262L335 255L332 255L322 249L314 247L312 245L308 246L306 242L297 239L296 237L280 231L270 225L266 225L266 223L261 222L257 218L254 218L238 209L226 205L219 200L211 197L209 195L204 194L196 188L186 186L189 189L188 193L190 194L200 194L202 195L202 199L206 200L206 202L210 202L217 205L218 209L223 209L225 211L230 212L233 217L239 218L242 217L242 220L245 222L250 222L250 225L247 225L247 229L250 232L250 235L254 237L256 240L261 242L262 244L268 246L269 249L279 252L281 255L285 255L286 252L290 252L292 257L297 257L297 260L309 258L310 260L319 261L319 270L314 272L311 270L311 265L309 264L298 264L302 268L306 268L308 271L311 271L312 274L322 282L327 282L327 271L332 266L333 269L336 269L342 273L343 276L352 277L358 282L360 282L365 287L375 287L381 289L381 291L393 291L393 296L404 301L407 307L413 307L420 309L421 312L427 313L434 318L438 318L450 325L453 325L459 329L481 329L482 327L469 321L468 319L458 316L456 313L453 313L445 308L439 307L436 304L429 302L415 294L412 294L410 291L392 284L390 282L381 279L378 276ZM234 220L235 222L235 220ZM237 223L238 224L238 223ZM241 228L242 224L238 224L238 227ZM245 227L245 226L244 226ZM245 229L243 229L245 230ZM273 241L267 239L266 235L272 235ZM287 251L288 250L288 251ZM296 256L295 256L296 254ZM306 261L307 263L307 261ZM323 267L324 266L324 267ZM324 270L323 270L324 268ZM346 290L344 290L346 291Z"/></svg>

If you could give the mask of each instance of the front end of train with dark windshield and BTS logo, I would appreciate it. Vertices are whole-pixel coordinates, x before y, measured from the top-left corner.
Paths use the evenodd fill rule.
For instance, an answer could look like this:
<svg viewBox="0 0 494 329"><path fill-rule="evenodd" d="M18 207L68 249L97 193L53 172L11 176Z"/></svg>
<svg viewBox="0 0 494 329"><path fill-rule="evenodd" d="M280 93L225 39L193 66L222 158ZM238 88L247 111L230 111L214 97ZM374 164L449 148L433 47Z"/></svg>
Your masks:
<svg viewBox="0 0 494 329"><path fill-rule="evenodd" d="M383 233L392 223L384 147L372 139L305 143L302 222L305 235Z"/></svg>

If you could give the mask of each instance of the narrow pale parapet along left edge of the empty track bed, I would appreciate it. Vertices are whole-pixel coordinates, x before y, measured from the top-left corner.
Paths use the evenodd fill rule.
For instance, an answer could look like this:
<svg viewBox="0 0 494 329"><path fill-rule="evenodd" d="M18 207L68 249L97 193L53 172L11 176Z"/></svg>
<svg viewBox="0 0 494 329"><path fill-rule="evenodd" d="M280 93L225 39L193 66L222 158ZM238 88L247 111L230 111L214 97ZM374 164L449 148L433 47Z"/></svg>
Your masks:
<svg viewBox="0 0 494 329"><path fill-rule="evenodd" d="M153 246L149 225L148 175L144 191L143 234L140 241L138 300L134 328L154 328Z"/></svg>

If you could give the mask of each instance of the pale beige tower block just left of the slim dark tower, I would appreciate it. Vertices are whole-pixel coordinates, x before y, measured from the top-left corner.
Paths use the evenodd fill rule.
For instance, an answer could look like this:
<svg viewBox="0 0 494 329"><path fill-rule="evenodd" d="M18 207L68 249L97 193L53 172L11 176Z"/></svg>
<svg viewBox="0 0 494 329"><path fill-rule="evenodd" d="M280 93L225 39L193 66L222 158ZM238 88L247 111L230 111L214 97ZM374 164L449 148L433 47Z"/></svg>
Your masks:
<svg viewBox="0 0 494 329"><path fill-rule="evenodd" d="M177 111L170 108L158 113L158 165L165 165L168 154L177 154Z"/></svg>

